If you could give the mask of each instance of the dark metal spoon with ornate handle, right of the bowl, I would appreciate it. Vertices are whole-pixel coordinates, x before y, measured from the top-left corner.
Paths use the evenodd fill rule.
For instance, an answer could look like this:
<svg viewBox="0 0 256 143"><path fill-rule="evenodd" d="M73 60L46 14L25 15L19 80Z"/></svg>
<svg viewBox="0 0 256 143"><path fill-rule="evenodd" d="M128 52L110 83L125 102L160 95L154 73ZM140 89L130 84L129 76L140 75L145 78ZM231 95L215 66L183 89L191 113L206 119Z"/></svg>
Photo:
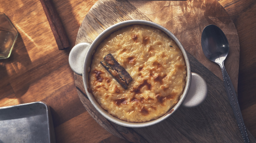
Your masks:
<svg viewBox="0 0 256 143"><path fill-rule="evenodd" d="M221 67L224 85L227 95L235 114L236 121L242 133L243 139L249 143L249 138L246 132L245 123L238 104L237 95L233 84L224 67L224 61L229 51L229 44L223 31L216 25L208 25L203 29L201 44L204 55L211 61L217 63Z"/></svg>

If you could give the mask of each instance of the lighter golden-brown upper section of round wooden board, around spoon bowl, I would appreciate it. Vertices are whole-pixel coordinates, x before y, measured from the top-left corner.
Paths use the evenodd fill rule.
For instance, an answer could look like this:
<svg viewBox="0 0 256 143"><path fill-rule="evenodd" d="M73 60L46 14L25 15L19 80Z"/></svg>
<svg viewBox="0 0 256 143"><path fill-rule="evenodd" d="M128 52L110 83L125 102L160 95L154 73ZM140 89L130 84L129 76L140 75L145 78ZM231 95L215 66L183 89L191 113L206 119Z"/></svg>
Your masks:
<svg viewBox="0 0 256 143"><path fill-rule="evenodd" d="M104 11L108 11L107 14ZM131 19L153 21L166 27L176 35L189 53L222 79L219 65L208 60L201 47L203 28L207 24L219 26L230 43L225 67L237 91L240 49L238 35L228 13L217 1L98 1L86 15L86 22L81 25L86 27L81 29L84 35L78 34L81 37L77 38L76 43L92 42L107 27Z"/></svg>

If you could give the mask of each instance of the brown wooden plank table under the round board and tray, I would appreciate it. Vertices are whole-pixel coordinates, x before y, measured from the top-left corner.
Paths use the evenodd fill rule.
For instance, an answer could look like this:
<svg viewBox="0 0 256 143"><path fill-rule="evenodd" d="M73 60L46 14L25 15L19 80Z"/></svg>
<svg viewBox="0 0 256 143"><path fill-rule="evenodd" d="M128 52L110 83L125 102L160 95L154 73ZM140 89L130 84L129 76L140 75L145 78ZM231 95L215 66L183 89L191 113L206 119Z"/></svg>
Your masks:
<svg viewBox="0 0 256 143"><path fill-rule="evenodd" d="M0 107L43 101L51 107L56 142L127 142L108 133L84 109L68 55L80 24L94 1L53 0L70 48L58 50L40 1L0 0L19 31L11 57L0 60ZM240 43L239 104L249 132L256 137L256 3L219 0L233 20Z"/></svg>

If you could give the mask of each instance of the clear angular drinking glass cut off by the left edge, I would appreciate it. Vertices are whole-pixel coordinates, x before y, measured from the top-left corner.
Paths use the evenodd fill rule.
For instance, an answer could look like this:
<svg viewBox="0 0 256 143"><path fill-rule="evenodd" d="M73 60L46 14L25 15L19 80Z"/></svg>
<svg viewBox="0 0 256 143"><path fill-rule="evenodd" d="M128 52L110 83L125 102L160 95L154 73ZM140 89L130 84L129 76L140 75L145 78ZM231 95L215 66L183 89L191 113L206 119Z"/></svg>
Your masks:
<svg viewBox="0 0 256 143"><path fill-rule="evenodd" d="M8 58L18 37L18 31L9 18L0 12L0 59Z"/></svg>

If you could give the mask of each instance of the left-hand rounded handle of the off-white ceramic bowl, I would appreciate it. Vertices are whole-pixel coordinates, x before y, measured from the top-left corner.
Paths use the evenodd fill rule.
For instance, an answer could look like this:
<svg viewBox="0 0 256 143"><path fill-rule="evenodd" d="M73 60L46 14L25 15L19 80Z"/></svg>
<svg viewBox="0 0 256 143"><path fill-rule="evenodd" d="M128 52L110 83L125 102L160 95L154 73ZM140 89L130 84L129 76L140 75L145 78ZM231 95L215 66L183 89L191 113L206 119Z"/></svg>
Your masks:
<svg viewBox="0 0 256 143"><path fill-rule="evenodd" d="M69 66L78 75L83 73L85 55L91 44L90 42L78 43L69 53Z"/></svg>

